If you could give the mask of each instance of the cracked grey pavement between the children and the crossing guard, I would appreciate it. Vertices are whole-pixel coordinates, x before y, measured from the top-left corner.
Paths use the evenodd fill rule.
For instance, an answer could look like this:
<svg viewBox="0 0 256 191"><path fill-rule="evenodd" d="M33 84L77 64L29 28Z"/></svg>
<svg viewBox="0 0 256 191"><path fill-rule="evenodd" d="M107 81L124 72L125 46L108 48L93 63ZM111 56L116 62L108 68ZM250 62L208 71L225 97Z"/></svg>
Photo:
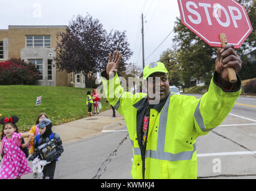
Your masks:
<svg viewBox="0 0 256 191"><path fill-rule="evenodd" d="M100 133L64 144L64 151L56 165L57 179L131 178L132 149L127 131ZM29 164L32 166L31 162ZM22 178L33 178L33 174Z"/></svg>

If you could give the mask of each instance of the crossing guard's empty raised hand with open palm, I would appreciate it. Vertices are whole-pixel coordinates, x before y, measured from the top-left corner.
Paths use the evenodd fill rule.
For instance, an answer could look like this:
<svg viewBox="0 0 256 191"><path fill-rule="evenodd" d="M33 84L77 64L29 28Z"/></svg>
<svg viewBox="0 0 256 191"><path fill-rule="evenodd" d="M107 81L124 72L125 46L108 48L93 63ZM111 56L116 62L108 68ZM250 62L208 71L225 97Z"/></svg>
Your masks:
<svg viewBox="0 0 256 191"><path fill-rule="evenodd" d="M118 65L122 58L122 55L119 55L114 51L113 58L111 54L109 54L109 63L107 63L107 75L108 76L114 76L116 72L118 72Z"/></svg>

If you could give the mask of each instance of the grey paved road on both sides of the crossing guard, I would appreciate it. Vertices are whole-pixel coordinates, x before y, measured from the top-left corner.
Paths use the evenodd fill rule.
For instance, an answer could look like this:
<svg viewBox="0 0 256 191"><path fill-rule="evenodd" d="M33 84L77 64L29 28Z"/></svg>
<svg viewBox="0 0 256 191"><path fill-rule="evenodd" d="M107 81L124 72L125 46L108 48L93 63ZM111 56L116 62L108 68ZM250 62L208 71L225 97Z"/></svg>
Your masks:
<svg viewBox="0 0 256 191"><path fill-rule="evenodd" d="M221 127L197 139L198 177L256 178L255 143L256 98L239 97ZM131 178L125 127L64 144L64 149L55 178Z"/></svg>

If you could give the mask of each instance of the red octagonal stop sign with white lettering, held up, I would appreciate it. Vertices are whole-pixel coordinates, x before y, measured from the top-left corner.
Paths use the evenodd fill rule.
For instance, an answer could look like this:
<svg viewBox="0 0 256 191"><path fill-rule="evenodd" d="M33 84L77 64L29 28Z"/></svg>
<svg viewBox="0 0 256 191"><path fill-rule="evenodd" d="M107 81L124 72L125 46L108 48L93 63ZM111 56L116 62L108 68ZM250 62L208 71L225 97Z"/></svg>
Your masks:
<svg viewBox="0 0 256 191"><path fill-rule="evenodd" d="M211 47L221 47L220 33L239 48L252 32L245 7L235 0L178 0L182 23Z"/></svg>

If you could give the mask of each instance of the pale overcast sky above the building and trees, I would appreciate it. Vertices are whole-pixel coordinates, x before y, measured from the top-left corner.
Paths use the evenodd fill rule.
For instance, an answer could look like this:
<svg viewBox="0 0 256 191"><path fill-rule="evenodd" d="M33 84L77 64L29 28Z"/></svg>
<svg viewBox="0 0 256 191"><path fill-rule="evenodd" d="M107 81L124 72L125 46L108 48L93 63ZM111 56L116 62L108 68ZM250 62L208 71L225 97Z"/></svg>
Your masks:
<svg viewBox="0 0 256 191"><path fill-rule="evenodd" d="M68 26L73 16L90 14L100 20L108 32L126 31L129 48L134 53L129 62L140 67L141 13L144 15L145 65L158 61L161 53L171 48L174 33L170 32L176 17L180 17L177 0L1 0L0 7L0 29L8 29L9 25Z"/></svg>

